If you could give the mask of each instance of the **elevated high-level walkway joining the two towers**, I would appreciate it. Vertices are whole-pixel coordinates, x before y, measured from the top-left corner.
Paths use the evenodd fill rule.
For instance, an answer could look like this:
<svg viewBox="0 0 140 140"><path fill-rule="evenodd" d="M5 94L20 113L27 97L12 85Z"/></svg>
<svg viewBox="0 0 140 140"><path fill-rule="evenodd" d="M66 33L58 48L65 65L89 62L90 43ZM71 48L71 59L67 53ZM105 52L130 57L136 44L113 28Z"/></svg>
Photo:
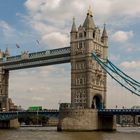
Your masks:
<svg viewBox="0 0 140 140"><path fill-rule="evenodd" d="M70 47L0 58L0 67L17 70L70 62Z"/></svg>

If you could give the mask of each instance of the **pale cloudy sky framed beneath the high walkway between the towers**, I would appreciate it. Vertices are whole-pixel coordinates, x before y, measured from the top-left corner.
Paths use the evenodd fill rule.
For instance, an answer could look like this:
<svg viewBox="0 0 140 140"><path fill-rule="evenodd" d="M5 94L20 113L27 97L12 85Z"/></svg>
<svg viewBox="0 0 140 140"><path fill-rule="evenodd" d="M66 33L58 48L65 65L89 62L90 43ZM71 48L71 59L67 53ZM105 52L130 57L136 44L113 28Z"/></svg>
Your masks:
<svg viewBox="0 0 140 140"><path fill-rule="evenodd" d="M57 65L10 72L9 97L24 108L58 108L70 102L70 66Z"/></svg>

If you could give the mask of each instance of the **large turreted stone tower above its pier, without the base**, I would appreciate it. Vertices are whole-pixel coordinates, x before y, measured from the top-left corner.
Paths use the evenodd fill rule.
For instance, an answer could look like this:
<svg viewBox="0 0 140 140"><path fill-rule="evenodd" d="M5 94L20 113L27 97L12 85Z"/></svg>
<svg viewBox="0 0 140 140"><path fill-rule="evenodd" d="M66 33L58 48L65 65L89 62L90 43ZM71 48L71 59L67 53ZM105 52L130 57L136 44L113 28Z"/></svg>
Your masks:
<svg viewBox="0 0 140 140"><path fill-rule="evenodd" d="M83 25L71 29L71 103L73 108L100 109L106 107L106 73L92 58L95 52L105 59L108 35L95 25L91 9Z"/></svg>

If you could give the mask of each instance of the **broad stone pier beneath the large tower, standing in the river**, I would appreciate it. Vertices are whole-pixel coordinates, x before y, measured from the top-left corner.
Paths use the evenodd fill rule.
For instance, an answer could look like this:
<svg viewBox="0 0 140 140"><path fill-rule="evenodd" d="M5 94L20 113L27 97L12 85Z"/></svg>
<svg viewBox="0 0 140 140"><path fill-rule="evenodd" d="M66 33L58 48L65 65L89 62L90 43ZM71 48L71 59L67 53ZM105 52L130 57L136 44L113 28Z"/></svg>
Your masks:
<svg viewBox="0 0 140 140"><path fill-rule="evenodd" d="M58 131L115 130L113 116L99 116L96 109L67 109L59 112Z"/></svg>

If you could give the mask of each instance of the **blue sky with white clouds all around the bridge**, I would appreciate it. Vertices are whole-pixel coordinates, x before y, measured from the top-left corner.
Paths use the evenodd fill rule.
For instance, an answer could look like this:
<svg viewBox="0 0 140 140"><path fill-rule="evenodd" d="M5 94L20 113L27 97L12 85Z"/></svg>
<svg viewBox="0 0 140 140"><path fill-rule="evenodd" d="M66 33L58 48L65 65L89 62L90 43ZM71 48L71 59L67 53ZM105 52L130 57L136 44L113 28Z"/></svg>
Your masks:
<svg viewBox="0 0 140 140"><path fill-rule="evenodd" d="M140 81L139 5L139 0L0 0L0 48L17 55L70 46L72 18L77 27L83 24L91 6L96 26L102 30L106 23L109 59ZM10 71L9 97L23 108L58 108L70 102L70 75L70 64ZM109 77L107 90L108 108L140 105L139 97Z"/></svg>

